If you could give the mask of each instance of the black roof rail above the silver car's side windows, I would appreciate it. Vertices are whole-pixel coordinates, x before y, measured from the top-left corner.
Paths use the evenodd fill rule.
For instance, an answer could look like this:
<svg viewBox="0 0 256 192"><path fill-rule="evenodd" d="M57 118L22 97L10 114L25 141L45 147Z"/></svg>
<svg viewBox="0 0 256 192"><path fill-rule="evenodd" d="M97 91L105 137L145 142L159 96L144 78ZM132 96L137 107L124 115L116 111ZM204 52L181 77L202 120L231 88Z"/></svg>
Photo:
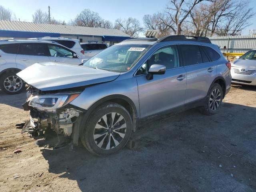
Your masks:
<svg viewBox="0 0 256 192"><path fill-rule="evenodd" d="M188 37L188 38L187 38ZM212 43L209 38L201 36L185 36L185 35L170 35L158 39L157 42L165 41L199 41L204 43Z"/></svg>

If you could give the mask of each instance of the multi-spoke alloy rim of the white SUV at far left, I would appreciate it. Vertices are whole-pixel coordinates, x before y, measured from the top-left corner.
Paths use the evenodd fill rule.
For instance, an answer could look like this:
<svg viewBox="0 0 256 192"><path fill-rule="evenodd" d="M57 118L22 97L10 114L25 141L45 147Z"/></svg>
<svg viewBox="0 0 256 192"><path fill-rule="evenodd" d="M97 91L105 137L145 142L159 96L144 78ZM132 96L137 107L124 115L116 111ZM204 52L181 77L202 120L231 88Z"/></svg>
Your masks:
<svg viewBox="0 0 256 192"><path fill-rule="evenodd" d="M23 82L18 76L12 75L4 80L4 88L9 92L17 92L22 88Z"/></svg>

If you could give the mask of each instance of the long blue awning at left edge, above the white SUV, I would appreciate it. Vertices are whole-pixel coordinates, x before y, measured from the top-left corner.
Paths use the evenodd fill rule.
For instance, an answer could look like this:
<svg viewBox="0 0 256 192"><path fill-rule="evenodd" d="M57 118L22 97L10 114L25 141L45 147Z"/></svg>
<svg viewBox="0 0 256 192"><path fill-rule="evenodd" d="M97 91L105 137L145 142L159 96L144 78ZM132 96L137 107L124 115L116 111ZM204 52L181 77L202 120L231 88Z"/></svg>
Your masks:
<svg viewBox="0 0 256 192"><path fill-rule="evenodd" d="M13 38L38 38L38 37L60 37L59 33L31 32L31 31L9 31L0 30L0 37Z"/></svg>

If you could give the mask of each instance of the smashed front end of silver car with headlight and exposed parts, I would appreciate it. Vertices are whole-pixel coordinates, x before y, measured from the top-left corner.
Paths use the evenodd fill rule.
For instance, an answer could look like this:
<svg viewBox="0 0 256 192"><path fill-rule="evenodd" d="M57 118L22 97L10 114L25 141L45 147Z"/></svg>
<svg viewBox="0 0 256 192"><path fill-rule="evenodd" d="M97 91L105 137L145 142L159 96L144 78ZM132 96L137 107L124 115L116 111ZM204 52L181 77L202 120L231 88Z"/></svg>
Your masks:
<svg viewBox="0 0 256 192"><path fill-rule="evenodd" d="M22 128L22 133L38 137L53 130L58 138L59 135L70 138L74 123L84 111L69 103L79 96L81 90L42 92L33 87L28 90L27 100L22 106L30 111L30 120Z"/></svg>

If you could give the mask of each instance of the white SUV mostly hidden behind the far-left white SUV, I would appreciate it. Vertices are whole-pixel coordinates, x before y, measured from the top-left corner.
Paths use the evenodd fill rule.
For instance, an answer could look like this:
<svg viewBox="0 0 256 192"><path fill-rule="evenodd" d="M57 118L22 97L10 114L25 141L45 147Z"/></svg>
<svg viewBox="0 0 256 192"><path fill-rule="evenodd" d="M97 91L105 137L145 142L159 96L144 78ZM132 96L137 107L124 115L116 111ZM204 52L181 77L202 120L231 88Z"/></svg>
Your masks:
<svg viewBox="0 0 256 192"><path fill-rule="evenodd" d="M42 37L42 38L31 38L31 39L57 42L58 44L64 45L65 47L74 51L77 55L80 56L81 59L86 59L84 50L82 49L78 39L69 39L64 37Z"/></svg>

